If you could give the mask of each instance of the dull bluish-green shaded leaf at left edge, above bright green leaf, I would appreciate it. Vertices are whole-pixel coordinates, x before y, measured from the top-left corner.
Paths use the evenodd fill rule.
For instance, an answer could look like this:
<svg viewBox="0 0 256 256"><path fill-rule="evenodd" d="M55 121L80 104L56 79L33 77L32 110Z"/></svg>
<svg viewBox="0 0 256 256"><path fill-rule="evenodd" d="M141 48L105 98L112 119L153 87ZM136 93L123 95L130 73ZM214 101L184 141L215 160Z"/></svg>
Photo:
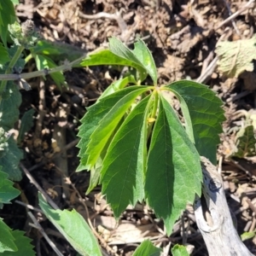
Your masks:
<svg viewBox="0 0 256 256"><path fill-rule="evenodd" d="M3 156L0 158L0 166L3 166L3 172L9 175L9 179L14 181L20 181L20 160L23 157L23 153L15 143L15 139L10 137L7 141L8 147L5 149Z"/></svg>

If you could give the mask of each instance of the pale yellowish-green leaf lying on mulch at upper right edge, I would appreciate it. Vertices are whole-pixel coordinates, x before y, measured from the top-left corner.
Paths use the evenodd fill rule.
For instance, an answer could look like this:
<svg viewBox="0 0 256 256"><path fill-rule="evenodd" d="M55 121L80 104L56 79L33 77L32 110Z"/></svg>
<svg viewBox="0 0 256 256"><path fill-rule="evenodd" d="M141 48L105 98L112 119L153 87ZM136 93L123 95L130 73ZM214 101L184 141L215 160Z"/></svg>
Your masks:
<svg viewBox="0 0 256 256"><path fill-rule="evenodd" d="M218 69L230 78L237 78L244 71L253 72L253 60L256 59L255 44L255 34L250 39L219 42L215 50L218 55Z"/></svg>

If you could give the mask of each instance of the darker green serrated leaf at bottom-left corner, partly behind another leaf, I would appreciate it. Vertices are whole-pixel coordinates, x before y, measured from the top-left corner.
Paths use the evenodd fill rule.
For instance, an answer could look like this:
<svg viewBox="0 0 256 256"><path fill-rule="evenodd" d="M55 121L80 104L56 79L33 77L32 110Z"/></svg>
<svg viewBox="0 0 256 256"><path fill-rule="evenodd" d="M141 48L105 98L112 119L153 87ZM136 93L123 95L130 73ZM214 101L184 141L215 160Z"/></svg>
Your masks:
<svg viewBox="0 0 256 256"><path fill-rule="evenodd" d="M26 256L35 256L36 253L33 250L33 246L31 244L32 239L24 236L25 232L20 230L12 230L12 236L15 238L15 246L18 248L17 252L8 252L5 251L1 254L1 256L18 256L18 255L26 255Z"/></svg>

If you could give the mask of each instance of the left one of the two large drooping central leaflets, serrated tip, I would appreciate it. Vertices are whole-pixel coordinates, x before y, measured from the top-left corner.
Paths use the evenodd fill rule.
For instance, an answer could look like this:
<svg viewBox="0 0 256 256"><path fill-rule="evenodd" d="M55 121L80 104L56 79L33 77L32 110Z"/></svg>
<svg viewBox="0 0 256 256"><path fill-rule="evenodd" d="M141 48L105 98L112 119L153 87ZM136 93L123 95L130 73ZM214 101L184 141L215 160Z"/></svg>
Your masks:
<svg viewBox="0 0 256 256"><path fill-rule="evenodd" d="M103 160L102 193L107 195L115 217L119 217L129 204L134 206L144 197L148 100L149 96L131 111L113 137Z"/></svg>

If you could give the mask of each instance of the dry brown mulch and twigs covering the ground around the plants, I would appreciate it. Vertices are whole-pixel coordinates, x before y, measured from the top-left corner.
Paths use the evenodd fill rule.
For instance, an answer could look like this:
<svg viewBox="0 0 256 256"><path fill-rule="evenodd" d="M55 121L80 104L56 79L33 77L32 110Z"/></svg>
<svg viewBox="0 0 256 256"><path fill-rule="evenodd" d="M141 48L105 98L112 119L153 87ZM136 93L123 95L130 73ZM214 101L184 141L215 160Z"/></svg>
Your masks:
<svg viewBox="0 0 256 256"><path fill-rule="evenodd" d="M255 4L227 21L247 3L238 0L23 0L16 8L20 21L32 19L42 38L84 52L106 45L111 36L129 45L137 37L144 38L156 61L160 84L203 78L201 82L216 91L224 101L226 116L218 161L239 235L256 229L256 157L247 154L231 157L237 147L237 132L254 114L256 72L228 79L212 61L219 40L236 41L251 38L255 33ZM207 69L211 63L213 68ZM29 62L27 71L34 68L33 62ZM75 208L86 220L90 219L108 252L106 255L131 255L146 238L162 247L165 255L175 243L185 244L191 255L207 255L191 206L177 220L168 237L162 221L146 205L128 207L117 223L100 188L84 195L90 173L75 172L79 165L78 148L74 147L78 142L79 119L85 113L84 107L96 102L108 84L119 79L119 71L90 67L73 69L65 76L69 87L62 91L51 79L31 79L28 83L32 90L22 90L20 113L29 108L37 112L35 125L21 145L26 152L23 165L32 177L59 207ZM26 176L17 186L22 191L18 201L38 207L37 189ZM41 213L35 211L38 214ZM26 230L38 255L52 255L52 248L28 224L31 220L25 207L14 202L4 207L0 216L11 228ZM45 232L61 253L76 255L54 226L44 216L41 218ZM245 244L256 253L256 236Z"/></svg>

